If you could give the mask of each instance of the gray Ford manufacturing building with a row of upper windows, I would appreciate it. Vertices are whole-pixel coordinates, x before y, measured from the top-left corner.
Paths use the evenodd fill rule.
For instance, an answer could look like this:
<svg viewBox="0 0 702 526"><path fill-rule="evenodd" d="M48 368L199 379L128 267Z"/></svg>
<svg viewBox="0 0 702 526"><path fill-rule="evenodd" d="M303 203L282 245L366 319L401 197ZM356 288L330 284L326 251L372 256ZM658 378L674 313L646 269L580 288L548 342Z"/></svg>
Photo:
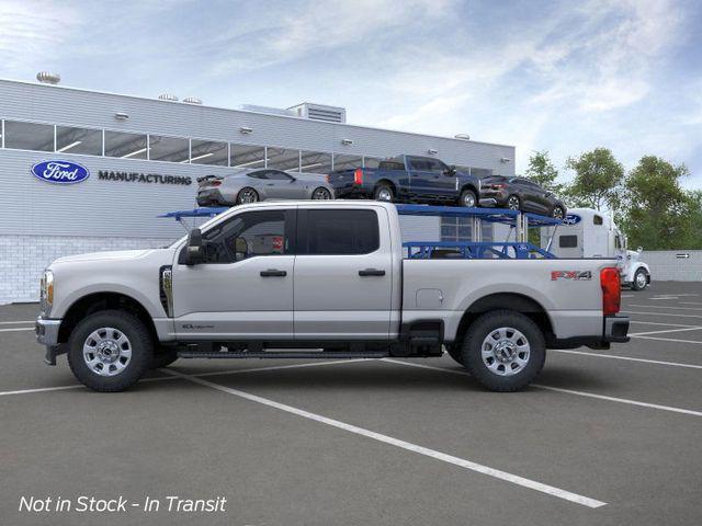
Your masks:
<svg viewBox="0 0 702 526"><path fill-rule="evenodd" d="M313 174L373 168L399 153L437 157L479 176L514 173L514 147L355 126L340 107L229 110L37 79L0 80L0 304L36 301L39 274L56 258L181 237L180 225L157 216L195 207L203 175L274 168L324 176ZM81 169L73 184L56 184L36 175L36 165L43 173ZM403 220L415 239L471 236L456 219Z"/></svg>

